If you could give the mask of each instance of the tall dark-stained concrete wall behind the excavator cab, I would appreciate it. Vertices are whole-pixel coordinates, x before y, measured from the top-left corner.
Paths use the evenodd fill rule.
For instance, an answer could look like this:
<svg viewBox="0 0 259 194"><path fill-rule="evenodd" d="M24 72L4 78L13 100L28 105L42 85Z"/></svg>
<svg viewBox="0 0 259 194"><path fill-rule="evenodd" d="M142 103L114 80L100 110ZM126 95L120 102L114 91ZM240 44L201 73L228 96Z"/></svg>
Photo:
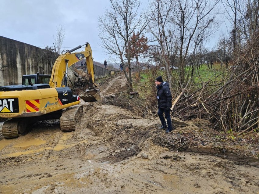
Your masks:
<svg viewBox="0 0 259 194"><path fill-rule="evenodd" d="M26 74L51 74L55 61L39 57L39 47L0 36L0 85L22 84Z"/></svg>

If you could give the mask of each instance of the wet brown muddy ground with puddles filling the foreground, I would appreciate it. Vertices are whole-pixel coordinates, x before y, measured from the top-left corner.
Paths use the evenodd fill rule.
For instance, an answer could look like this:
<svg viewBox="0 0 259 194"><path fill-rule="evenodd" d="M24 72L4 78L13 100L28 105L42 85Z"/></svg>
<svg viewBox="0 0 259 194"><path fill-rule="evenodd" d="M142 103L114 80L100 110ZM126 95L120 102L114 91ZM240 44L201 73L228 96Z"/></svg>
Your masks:
<svg viewBox="0 0 259 194"><path fill-rule="evenodd" d="M109 78L102 98L125 84ZM202 120L165 134L158 117L81 103L73 132L49 120L0 140L0 193L259 193L258 145L211 138Z"/></svg>

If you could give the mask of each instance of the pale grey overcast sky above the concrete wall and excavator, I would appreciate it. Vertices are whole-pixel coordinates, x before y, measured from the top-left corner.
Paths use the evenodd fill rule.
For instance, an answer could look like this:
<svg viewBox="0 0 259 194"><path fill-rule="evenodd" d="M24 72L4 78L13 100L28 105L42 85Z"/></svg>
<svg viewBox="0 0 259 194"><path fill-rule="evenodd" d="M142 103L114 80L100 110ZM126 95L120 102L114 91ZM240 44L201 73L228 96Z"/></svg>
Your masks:
<svg viewBox="0 0 259 194"><path fill-rule="evenodd" d="M143 8L148 0L141 2ZM0 0L0 35L44 48L53 46L57 26L63 24L62 50L89 42L94 60L109 63L98 37L98 17L106 7L108 0ZM211 39L216 41L217 36Z"/></svg>

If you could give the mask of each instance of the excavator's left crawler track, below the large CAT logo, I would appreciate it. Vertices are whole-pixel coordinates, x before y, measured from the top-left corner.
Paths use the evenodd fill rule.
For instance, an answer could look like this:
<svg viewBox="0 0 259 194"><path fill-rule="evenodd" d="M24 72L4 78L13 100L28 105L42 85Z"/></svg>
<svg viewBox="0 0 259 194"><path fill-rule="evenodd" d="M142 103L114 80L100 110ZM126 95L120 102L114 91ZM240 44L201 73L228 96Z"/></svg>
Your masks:
<svg viewBox="0 0 259 194"><path fill-rule="evenodd" d="M5 139L12 139L19 137L18 133L18 126L20 120L18 119L11 119L5 121L2 126L2 135Z"/></svg>

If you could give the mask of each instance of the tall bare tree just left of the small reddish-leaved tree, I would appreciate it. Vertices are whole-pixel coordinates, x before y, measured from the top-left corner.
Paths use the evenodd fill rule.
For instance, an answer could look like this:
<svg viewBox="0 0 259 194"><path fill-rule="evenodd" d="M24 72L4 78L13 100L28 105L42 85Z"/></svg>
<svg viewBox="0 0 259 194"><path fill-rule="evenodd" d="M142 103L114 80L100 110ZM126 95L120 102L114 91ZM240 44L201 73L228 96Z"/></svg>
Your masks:
<svg viewBox="0 0 259 194"><path fill-rule="evenodd" d="M143 14L139 13L139 0L109 0L109 2L110 7L99 17L99 37L106 51L121 61L132 91L131 72L134 67L131 66L131 60L135 53L130 49L132 44L130 37L136 31L139 37L142 36L146 32L149 20L145 20Z"/></svg>

